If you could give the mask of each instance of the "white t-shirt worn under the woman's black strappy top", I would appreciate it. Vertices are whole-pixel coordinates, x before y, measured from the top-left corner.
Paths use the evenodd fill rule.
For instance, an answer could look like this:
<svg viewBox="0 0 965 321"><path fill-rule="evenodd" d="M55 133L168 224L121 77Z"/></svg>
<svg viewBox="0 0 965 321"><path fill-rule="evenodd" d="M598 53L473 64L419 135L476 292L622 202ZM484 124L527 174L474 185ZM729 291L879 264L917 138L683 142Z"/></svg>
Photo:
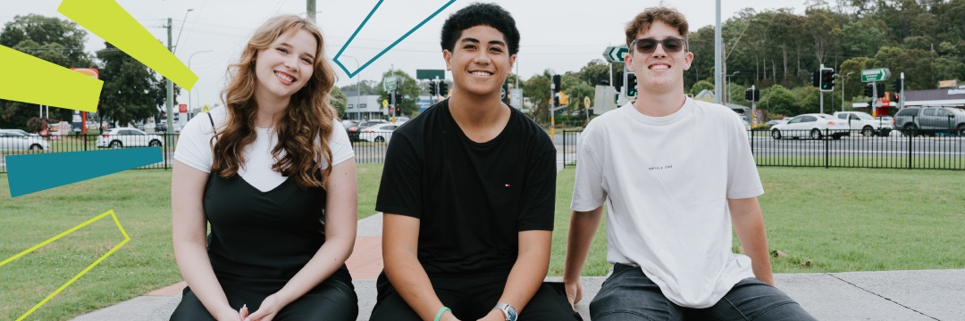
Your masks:
<svg viewBox="0 0 965 321"><path fill-rule="evenodd" d="M223 126L228 120L228 110L223 107L211 110L209 114L217 127ZM334 129L328 147L332 150L332 163L338 165L354 156L355 152L352 151L348 134L345 133L342 123L339 120L332 121ZM238 175L259 191L267 192L281 185L288 177L271 170L271 166L275 164L271 148L278 144L278 135L271 128L255 129L258 131L258 137L254 143L244 148L245 162L244 166L238 168ZM198 171L211 173L213 155L210 142L213 134L211 120L207 119L207 115L198 114L181 130L178 147L175 149L175 159ZM285 156L284 151L279 155L279 157L282 156ZM324 169L325 166L321 164L320 167Z"/></svg>

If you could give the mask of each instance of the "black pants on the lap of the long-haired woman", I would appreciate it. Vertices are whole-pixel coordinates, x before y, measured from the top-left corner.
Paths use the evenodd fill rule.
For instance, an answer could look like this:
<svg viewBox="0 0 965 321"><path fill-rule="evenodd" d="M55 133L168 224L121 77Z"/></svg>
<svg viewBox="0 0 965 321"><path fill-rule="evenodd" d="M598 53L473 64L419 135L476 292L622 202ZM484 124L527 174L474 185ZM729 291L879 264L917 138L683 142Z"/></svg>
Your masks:
<svg viewBox="0 0 965 321"><path fill-rule="evenodd" d="M247 291L244 288L225 286L228 304L235 310L247 305L254 313L262 305L265 294ZM270 294L270 293L269 293ZM350 281L329 278L301 298L282 308L274 320L338 320L354 321L359 314L358 297ZM177 320L214 320L191 289L184 287L178 308L171 314L171 321Z"/></svg>

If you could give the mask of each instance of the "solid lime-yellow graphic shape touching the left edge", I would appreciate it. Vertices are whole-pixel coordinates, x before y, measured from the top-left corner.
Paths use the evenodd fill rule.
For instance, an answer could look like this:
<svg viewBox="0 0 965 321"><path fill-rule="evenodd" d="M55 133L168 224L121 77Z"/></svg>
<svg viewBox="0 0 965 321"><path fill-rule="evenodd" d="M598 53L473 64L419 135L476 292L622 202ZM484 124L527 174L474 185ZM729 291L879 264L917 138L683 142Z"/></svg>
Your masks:
<svg viewBox="0 0 965 321"><path fill-rule="evenodd" d="M0 98L33 104L97 111L104 82L0 45Z"/></svg>

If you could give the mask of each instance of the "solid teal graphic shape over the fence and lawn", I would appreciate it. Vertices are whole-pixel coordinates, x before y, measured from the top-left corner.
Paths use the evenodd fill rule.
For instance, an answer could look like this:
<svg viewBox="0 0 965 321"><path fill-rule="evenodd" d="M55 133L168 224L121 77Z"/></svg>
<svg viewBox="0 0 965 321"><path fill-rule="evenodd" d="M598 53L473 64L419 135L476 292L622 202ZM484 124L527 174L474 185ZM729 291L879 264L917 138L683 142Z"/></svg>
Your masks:
<svg viewBox="0 0 965 321"><path fill-rule="evenodd" d="M11 198L159 163L161 147L7 156Z"/></svg>

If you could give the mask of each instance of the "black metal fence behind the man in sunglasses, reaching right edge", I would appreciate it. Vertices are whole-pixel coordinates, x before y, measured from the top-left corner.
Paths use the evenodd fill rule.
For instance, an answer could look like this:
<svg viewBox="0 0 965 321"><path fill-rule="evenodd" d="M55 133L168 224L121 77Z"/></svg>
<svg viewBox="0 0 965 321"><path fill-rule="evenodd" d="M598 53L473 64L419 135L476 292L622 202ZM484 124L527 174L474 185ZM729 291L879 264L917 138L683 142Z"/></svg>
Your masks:
<svg viewBox="0 0 965 321"><path fill-rule="evenodd" d="M758 166L965 170L965 137L954 130L748 131ZM580 130L563 131L564 167L577 162Z"/></svg>

